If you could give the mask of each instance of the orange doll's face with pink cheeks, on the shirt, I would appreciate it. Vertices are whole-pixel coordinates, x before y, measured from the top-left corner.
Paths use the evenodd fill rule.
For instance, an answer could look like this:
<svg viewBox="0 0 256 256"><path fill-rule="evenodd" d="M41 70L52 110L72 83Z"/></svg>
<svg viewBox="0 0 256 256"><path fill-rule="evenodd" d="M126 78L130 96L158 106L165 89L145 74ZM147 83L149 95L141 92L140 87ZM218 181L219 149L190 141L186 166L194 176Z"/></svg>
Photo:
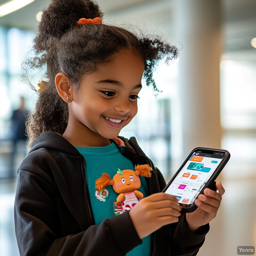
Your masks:
<svg viewBox="0 0 256 256"><path fill-rule="evenodd" d="M123 174L113 177L113 189L116 193L129 193L140 188L140 178L132 170L124 170Z"/></svg>

